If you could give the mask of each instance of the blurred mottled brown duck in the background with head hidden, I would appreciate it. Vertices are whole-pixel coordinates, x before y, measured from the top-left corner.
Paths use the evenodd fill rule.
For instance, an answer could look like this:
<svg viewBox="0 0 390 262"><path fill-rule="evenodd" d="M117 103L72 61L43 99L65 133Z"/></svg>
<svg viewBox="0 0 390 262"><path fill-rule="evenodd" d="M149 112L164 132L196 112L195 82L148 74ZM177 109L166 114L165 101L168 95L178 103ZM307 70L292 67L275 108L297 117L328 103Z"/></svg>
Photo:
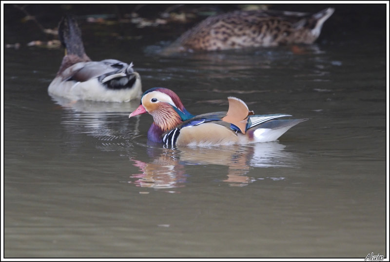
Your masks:
<svg viewBox="0 0 390 262"><path fill-rule="evenodd" d="M181 35L163 53L312 44L333 12L334 8L315 14L252 10L211 16Z"/></svg>

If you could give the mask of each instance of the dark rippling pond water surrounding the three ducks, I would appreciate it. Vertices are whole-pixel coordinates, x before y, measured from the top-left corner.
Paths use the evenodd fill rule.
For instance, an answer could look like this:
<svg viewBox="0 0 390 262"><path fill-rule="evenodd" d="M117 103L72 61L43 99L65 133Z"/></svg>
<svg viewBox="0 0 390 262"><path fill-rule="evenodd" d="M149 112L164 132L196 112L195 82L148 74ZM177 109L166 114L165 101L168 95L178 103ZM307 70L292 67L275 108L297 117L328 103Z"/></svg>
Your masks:
<svg viewBox="0 0 390 262"><path fill-rule="evenodd" d="M386 257L386 5L270 8L329 6L303 53L163 57L196 21L242 6L35 4L25 11L37 22L23 22L21 5L4 5L4 44L20 43L3 56L4 256ZM234 95L259 114L311 120L272 143L150 145L152 118L128 119L139 101L47 94L63 50L27 44L56 39L39 25L54 29L65 11L78 16L92 59L133 61L144 90L171 88L193 114L225 110Z"/></svg>

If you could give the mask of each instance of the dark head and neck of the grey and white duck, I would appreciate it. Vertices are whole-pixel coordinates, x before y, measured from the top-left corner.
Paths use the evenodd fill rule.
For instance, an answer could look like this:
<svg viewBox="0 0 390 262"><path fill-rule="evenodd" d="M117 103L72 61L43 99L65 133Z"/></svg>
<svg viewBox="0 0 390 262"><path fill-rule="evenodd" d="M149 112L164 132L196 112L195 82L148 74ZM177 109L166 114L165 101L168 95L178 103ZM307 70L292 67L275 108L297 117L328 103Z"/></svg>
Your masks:
<svg viewBox="0 0 390 262"><path fill-rule="evenodd" d="M83 59L87 58L81 39L81 31L74 16L65 15L62 17L59 22L58 35L66 54L77 55Z"/></svg>

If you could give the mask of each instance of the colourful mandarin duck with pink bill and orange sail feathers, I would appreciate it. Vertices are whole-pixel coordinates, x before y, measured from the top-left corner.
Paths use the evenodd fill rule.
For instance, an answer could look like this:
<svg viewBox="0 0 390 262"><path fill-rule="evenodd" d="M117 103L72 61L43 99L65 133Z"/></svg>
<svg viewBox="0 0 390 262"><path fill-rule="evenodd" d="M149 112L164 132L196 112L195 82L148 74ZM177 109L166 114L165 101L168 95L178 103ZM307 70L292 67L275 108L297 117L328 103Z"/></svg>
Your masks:
<svg viewBox="0 0 390 262"><path fill-rule="evenodd" d="M292 126L308 119L279 120L287 114L254 115L240 99L228 97L227 112L194 116L170 89L155 87L141 97L141 104L129 118L149 113L154 122L148 139L167 146L215 146L277 140Z"/></svg>

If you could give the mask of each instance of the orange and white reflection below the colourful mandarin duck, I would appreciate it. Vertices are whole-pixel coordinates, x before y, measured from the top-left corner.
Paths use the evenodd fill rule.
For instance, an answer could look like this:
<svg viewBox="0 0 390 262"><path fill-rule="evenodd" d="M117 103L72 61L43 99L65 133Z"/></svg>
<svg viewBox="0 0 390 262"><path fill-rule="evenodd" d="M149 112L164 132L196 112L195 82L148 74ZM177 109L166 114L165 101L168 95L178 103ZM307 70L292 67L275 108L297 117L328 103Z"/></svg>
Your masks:
<svg viewBox="0 0 390 262"><path fill-rule="evenodd" d="M131 175L129 183L139 187L168 189L184 187L188 183L186 166L221 165L228 167L223 182L230 186L246 186L256 180L270 178L282 180L283 177L250 177L247 173L253 167L294 167L296 157L284 151L285 145L279 142L257 143L247 146L225 146L211 148L182 147L179 149L148 147L150 162L130 157L139 174ZM213 157L211 157L213 156ZM221 169L222 170L222 169ZM215 180L210 181L210 183Z"/></svg>

